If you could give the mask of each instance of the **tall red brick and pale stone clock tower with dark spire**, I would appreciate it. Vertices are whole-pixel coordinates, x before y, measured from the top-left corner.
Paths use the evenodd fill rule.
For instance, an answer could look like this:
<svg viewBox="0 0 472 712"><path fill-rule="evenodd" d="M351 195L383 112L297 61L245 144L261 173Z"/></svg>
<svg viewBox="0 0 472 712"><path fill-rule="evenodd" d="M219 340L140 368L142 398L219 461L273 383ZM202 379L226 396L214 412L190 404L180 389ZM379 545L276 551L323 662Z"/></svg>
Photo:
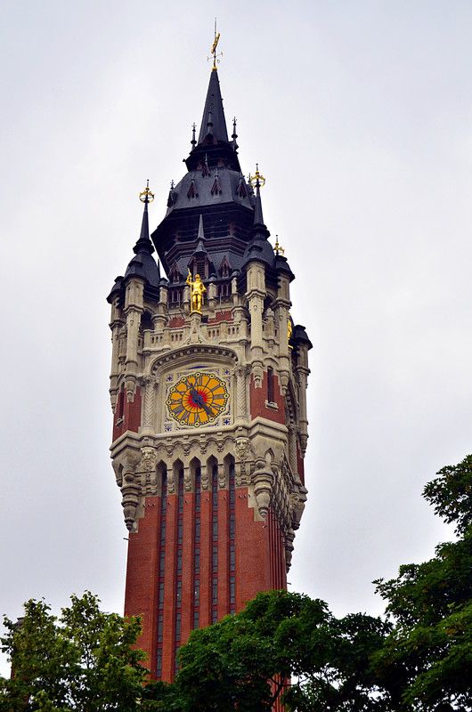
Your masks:
<svg viewBox="0 0 472 712"><path fill-rule="evenodd" d="M134 257L108 297L125 612L142 615L151 676L167 681L193 628L286 587L306 499L312 344L290 316L264 178L245 179L236 139L214 64L187 173L151 238L143 190Z"/></svg>

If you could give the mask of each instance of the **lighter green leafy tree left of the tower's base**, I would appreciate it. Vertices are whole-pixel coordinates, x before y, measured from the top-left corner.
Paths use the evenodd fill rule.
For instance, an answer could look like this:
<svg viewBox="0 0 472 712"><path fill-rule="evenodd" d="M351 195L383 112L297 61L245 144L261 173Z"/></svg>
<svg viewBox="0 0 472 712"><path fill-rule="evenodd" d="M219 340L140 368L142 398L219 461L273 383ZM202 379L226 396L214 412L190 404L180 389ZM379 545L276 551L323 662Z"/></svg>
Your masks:
<svg viewBox="0 0 472 712"><path fill-rule="evenodd" d="M142 651L132 646L139 619L99 610L99 599L85 592L71 596L61 616L44 601L25 603L20 625L4 619L2 650L13 676L0 678L0 709L8 712L133 712L138 709L146 670Z"/></svg>

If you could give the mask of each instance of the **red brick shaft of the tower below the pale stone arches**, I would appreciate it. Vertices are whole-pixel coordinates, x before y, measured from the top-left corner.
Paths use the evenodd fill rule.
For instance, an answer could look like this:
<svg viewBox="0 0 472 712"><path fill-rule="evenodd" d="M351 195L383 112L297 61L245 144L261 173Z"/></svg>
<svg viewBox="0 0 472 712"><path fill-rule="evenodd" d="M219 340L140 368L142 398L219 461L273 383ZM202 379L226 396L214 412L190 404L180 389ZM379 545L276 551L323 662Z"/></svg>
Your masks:
<svg viewBox="0 0 472 712"><path fill-rule="evenodd" d="M177 551L177 495L167 497L166 559L164 576L164 627L162 642L162 679L170 682L175 674L175 583ZM139 529L129 536L126 571L126 615L142 616L139 647L148 652L146 665L155 676L159 590L160 497L147 497ZM230 611L229 491L218 490L218 619ZM194 494L183 495L183 570L181 645L187 642L193 627L194 570ZM211 490L200 498L200 596L199 627L211 623ZM260 591L285 588L285 554L281 530L270 512L263 522L254 521L254 509L248 506L248 489L236 490L235 498L236 611Z"/></svg>

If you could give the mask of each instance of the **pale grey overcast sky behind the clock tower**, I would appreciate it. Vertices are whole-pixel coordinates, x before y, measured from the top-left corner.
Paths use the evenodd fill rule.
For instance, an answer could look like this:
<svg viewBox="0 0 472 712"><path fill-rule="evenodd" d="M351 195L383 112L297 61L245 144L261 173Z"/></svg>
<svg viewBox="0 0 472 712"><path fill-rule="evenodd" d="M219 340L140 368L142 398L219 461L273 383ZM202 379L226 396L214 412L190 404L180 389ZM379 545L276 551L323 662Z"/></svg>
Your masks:
<svg viewBox="0 0 472 712"><path fill-rule="evenodd" d="M85 588L122 612L109 305L199 124L226 118L313 341L291 589L379 612L449 536L424 484L471 450L472 4L4 0L0 612ZM5 672L6 665L0 667Z"/></svg>

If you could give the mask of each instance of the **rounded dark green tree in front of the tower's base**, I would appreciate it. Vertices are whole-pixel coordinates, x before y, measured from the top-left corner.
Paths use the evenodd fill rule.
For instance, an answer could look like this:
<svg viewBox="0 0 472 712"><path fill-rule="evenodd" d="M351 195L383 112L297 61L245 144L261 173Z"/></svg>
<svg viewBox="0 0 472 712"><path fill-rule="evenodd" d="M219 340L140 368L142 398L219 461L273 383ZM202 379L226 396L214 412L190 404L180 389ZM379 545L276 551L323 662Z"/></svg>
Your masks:
<svg viewBox="0 0 472 712"><path fill-rule="evenodd" d="M388 630L362 614L336 619L305 595L259 594L194 631L175 684L150 685L146 696L162 712L268 712L278 698L287 710L387 709L366 671Z"/></svg>

